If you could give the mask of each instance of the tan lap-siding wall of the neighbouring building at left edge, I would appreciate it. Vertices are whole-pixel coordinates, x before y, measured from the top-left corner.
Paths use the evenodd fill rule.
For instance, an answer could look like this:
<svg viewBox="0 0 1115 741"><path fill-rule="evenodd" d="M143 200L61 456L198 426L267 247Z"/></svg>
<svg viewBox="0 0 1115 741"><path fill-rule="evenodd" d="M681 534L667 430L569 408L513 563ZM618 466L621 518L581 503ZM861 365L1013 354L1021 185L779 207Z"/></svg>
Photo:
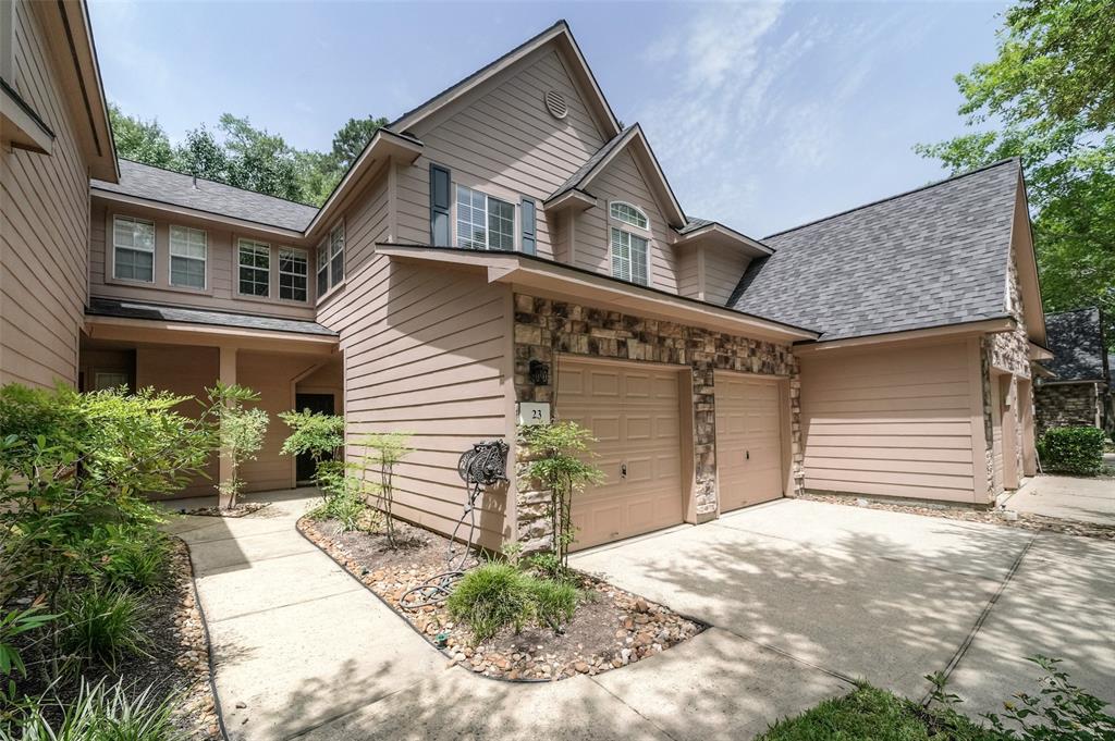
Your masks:
<svg viewBox="0 0 1115 741"><path fill-rule="evenodd" d="M0 383L77 382L86 299L89 179L45 31L29 2L13 12L13 87L56 135L50 156L0 153Z"/></svg>

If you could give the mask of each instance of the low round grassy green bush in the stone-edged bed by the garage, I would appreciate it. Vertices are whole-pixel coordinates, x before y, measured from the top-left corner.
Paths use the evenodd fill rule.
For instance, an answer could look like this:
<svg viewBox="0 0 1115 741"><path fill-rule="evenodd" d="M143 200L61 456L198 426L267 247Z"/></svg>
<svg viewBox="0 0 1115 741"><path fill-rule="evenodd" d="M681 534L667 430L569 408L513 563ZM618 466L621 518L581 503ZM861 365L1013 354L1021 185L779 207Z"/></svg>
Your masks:
<svg viewBox="0 0 1115 741"><path fill-rule="evenodd" d="M558 628L573 617L578 591L571 584L540 579L511 564L485 564L462 577L446 599L450 617L468 624L477 641L505 627L529 623Z"/></svg>

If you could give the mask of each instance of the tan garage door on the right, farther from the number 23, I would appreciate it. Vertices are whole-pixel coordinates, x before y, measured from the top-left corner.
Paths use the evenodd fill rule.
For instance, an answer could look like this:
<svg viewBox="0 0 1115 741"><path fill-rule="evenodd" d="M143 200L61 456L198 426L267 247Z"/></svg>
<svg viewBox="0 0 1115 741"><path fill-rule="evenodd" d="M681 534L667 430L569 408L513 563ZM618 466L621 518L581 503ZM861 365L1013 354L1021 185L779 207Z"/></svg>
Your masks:
<svg viewBox="0 0 1115 741"><path fill-rule="evenodd" d="M716 373L720 511L783 495L782 417L777 379Z"/></svg>

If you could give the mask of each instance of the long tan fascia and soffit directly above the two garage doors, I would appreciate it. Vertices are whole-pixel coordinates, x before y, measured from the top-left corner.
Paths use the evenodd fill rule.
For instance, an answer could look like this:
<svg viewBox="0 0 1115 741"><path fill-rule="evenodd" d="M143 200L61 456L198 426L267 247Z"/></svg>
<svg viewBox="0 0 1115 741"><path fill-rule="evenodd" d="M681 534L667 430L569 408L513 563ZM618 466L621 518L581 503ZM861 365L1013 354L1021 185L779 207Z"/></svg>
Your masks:
<svg viewBox="0 0 1115 741"><path fill-rule="evenodd" d="M657 311L665 316L672 316L671 321L710 325L720 331L733 331L748 337L775 338L783 342L812 340L817 337L817 332L803 328L750 316L715 304L687 300L683 296L672 296L652 289L619 284L604 275L546 260L534 260L526 255L398 244L377 244L376 251L391 257L486 269L489 281L496 283L513 283L526 287L550 285L561 293L576 289L571 295L623 306L631 311Z"/></svg>

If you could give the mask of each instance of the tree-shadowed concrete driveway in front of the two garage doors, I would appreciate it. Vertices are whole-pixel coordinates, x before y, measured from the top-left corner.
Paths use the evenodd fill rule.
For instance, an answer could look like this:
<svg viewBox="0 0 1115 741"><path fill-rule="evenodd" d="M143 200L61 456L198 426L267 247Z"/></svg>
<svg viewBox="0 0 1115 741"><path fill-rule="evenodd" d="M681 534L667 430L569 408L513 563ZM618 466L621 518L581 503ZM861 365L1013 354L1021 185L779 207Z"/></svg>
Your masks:
<svg viewBox="0 0 1115 741"><path fill-rule="evenodd" d="M924 696L923 675L949 671L969 713L1032 689L1035 653L1115 698L1115 543L783 499L574 562L737 638L910 698Z"/></svg>

